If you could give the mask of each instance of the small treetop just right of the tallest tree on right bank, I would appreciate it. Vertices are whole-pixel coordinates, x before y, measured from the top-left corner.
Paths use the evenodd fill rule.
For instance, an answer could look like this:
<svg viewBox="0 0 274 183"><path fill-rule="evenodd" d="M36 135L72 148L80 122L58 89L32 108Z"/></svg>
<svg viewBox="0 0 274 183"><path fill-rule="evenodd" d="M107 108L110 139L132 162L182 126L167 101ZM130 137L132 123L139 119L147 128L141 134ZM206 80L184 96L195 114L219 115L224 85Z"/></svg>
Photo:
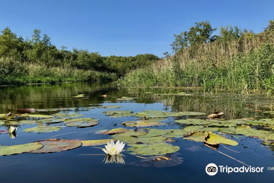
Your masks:
<svg viewBox="0 0 274 183"><path fill-rule="evenodd" d="M231 39L237 39L240 37L240 29L237 26L232 27L228 25L226 27L220 27L220 35L217 36L218 41L228 42Z"/></svg>

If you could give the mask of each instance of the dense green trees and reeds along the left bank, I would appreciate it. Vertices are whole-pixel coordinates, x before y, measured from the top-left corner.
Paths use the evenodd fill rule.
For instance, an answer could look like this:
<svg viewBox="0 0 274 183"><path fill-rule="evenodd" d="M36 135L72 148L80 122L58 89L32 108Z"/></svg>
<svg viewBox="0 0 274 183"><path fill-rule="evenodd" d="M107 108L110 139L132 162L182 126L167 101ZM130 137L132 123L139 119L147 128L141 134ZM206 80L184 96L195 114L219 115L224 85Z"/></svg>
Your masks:
<svg viewBox="0 0 274 183"><path fill-rule="evenodd" d="M47 34L35 29L23 40L6 27L0 34L0 85L117 80L127 71L147 66L159 57L101 56L99 52L57 49Z"/></svg>

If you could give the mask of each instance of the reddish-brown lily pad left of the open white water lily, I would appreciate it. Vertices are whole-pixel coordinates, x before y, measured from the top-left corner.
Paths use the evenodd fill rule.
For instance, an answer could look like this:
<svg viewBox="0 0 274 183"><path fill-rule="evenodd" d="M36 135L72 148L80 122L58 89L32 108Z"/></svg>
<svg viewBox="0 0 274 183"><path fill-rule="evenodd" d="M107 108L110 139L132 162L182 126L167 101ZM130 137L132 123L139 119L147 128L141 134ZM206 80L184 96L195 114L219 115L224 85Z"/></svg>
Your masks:
<svg viewBox="0 0 274 183"><path fill-rule="evenodd" d="M31 153L47 153L47 152L60 152L66 151L70 149L74 149L81 146L81 142L79 140L65 140L65 139L47 139L37 141L43 144L41 149L30 151ZM35 142L33 142L35 143Z"/></svg>

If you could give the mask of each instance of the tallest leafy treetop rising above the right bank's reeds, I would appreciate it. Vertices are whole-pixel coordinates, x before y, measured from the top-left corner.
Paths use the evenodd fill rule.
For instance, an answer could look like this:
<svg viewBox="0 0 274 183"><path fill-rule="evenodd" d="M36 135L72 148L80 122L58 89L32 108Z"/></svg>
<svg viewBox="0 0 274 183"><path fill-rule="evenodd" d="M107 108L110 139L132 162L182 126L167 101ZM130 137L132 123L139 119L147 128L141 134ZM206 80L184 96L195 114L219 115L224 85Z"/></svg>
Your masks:
<svg viewBox="0 0 274 183"><path fill-rule="evenodd" d="M191 46L199 45L202 43L207 43L213 41L211 37L212 33L217 30L217 28L212 28L212 25L208 20L202 22L195 22L195 26L189 28L188 40Z"/></svg>

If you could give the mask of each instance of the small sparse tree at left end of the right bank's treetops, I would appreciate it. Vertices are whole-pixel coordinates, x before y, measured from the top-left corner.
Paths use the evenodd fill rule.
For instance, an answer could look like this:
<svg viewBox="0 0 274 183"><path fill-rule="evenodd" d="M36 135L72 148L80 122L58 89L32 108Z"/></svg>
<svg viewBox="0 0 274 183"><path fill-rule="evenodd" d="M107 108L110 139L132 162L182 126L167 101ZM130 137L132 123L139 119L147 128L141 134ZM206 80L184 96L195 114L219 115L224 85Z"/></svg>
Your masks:
<svg viewBox="0 0 274 183"><path fill-rule="evenodd" d="M172 52L178 52L179 50L183 48L188 47L188 32L184 31L181 32L180 34L176 35L173 34L175 37L175 41L173 41L170 46L172 47Z"/></svg>

